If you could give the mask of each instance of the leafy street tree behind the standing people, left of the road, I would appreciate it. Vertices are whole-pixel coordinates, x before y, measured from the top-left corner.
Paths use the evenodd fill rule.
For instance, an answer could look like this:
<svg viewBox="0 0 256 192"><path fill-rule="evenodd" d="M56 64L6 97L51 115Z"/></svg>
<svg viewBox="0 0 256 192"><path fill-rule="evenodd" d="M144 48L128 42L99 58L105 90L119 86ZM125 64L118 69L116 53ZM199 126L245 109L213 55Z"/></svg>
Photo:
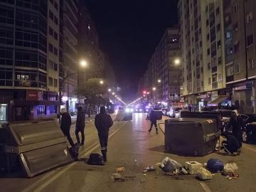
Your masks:
<svg viewBox="0 0 256 192"><path fill-rule="evenodd" d="M78 95L85 97L85 102L89 105L88 114L90 116L91 107L105 105L107 100L103 97L107 92L105 85L100 85L99 78L90 78L78 87Z"/></svg>

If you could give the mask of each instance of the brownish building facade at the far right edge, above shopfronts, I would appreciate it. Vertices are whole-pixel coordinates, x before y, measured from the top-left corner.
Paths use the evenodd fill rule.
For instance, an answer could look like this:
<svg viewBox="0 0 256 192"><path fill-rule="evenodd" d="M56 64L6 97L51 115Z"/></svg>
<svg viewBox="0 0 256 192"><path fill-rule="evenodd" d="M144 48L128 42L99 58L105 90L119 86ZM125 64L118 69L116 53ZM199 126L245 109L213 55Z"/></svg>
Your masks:
<svg viewBox="0 0 256 192"><path fill-rule="evenodd" d="M227 85L240 113L255 111L255 1L223 1Z"/></svg>

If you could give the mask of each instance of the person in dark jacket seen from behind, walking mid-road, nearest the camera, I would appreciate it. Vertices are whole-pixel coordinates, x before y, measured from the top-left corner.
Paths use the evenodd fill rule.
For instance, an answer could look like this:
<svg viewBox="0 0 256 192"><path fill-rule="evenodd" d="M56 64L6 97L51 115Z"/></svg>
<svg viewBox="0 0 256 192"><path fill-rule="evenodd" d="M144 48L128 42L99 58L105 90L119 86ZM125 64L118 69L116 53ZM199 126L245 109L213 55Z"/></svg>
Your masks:
<svg viewBox="0 0 256 192"><path fill-rule="evenodd" d="M113 120L110 114L107 114L105 107L100 107L100 113L95 117L95 127L99 135L104 161L107 161L107 139L112 125Z"/></svg>

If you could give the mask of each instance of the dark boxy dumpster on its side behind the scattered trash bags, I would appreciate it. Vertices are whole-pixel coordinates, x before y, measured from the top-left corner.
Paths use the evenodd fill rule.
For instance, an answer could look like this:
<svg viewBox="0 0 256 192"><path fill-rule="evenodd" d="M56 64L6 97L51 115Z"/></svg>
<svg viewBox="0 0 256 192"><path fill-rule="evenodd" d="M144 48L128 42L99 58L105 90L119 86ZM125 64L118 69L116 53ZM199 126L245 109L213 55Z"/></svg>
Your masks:
<svg viewBox="0 0 256 192"><path fill-rule="evenodd" d="M215 151L220 131L215 119L179 118L165 121L167 152L205 156Z"/></svg>

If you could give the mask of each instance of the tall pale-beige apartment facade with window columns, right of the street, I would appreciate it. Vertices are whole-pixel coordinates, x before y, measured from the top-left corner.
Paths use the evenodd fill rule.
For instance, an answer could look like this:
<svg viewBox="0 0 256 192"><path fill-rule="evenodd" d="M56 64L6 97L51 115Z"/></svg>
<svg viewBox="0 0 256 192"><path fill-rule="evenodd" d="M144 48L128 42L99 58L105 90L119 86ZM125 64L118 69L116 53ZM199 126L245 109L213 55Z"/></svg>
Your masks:
<svg viewBox="0 0 256 192"><path fill-rule="evenodd" d="M180 0L183 100L193 110L226 102L223 1Z"/></svg>

